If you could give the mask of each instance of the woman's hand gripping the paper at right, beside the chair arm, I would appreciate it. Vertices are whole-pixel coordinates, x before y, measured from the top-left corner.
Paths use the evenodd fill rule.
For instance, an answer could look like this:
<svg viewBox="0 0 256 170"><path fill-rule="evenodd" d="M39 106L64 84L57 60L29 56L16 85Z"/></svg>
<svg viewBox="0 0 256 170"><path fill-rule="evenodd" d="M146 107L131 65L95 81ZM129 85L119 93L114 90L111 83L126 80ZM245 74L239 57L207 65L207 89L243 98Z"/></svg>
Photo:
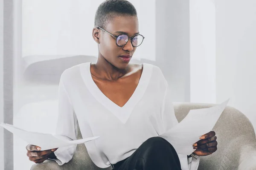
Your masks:
<svg viewBox="0 0 256 170"><path fill-rule="evenodd" d="M215 136L214 131L204 134L200 139L200 141L193 144L194 149L196 149L193 154L197 156L207 156L217 150L218 142L216 141L217 136Z"/></svg>

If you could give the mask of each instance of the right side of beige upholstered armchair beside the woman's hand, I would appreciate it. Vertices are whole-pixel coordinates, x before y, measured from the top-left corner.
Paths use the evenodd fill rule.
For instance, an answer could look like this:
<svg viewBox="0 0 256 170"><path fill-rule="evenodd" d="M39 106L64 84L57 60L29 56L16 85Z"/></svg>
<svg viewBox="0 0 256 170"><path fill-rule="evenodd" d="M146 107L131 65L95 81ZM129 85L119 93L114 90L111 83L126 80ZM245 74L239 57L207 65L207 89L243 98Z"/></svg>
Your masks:
<svg viewBox="0 0 256 170"><path fill-rule="evenodd" d="M192 109L215 105L174 103L175 116L180 122ZM212 155L201 156L198 170L256 170L255 132L243 113L227 106L212 130L216 132L218 150Z"/></svg>

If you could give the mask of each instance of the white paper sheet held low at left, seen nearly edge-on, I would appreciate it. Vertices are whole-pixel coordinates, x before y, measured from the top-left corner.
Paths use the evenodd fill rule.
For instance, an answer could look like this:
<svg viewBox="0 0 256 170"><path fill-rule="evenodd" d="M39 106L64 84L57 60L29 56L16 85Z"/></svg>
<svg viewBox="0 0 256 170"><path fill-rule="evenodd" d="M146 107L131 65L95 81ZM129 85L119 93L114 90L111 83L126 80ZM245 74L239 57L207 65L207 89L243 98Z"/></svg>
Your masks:
<svg viewBox="0 0 256 170"><path fill-rule="evenodd" d="M99 136L95 136L78 140L70 139L70 141L68 139L63 140L58 136L53 136L52 134L29 132L5 123L0 123L0 126L4 127L6 130L9 130L14 135L20 137L20 139L23 139L27 143L41 147L41 150L54 149L72 144L81 144L99 138Z"/></svg>

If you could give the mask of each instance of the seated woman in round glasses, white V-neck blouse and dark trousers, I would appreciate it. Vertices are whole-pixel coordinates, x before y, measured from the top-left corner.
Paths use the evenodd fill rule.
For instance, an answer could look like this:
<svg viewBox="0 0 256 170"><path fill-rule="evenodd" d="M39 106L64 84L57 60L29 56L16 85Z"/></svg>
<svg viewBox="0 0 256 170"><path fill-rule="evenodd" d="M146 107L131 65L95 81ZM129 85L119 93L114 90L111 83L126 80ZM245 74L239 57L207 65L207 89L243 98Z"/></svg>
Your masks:
<svg viewBox="0 0 256 170"><path fill-rule="evenodd" d="M74 140L77 124L92 161L115 170L196 170L199 156L217 150L209 132L194 144L191 156L177 154L161 137L177 125L168 84L160 68L129 63L144 37L139 33L137 12L126 0L107 0L97 9L93 39L98 43L95 64L83 63L64 71L59 84L56 134ZM76 146L40 151L26 147L29 160L55 160L59 165L73 157Z"/></svg>

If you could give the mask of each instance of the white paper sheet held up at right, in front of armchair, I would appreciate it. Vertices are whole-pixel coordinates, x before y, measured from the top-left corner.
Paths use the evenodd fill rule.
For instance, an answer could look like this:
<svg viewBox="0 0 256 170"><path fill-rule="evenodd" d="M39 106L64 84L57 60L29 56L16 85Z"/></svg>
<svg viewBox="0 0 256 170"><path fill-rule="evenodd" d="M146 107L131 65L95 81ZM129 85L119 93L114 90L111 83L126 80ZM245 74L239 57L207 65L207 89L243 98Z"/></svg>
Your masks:
<svg viewBox="0 0 256 170"><path fill-rule="evenodd" d="M192 145L201 140L202 135L212 131L228 101L211 108L190 110L178 125L160 137L170 142L178 154L190 155L195 151Z"/></svg>

